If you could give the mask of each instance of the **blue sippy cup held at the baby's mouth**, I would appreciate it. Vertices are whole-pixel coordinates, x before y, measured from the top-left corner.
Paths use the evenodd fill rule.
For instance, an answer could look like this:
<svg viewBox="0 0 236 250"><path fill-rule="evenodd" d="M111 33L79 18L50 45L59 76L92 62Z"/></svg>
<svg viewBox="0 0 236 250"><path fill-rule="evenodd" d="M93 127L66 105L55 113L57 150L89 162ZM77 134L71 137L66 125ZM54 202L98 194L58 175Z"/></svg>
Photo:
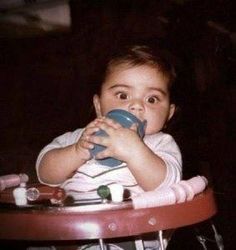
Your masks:
<svg viewBox="0 0 236 250"><path fill-rule="evenodd" d="M120 123L123 127L125 128L130 128L132 124L137 123L138 124L138 135L140 138L143 138L145 134L145 127L146 127L146 121L140 121L136 116L133 114L129 113L128 111L122 110L122 109L114 109L106 114L106 117L113 119ZM95 133L95 135L98 136L108 136L105 131L99 130L98 132ZM93 149L90 150L90 153L92 156L96 156L98 152L101 152L104 150L105 147L96 144ZM106 165L109 167L115 167L118 166L122 163L122 161L117 160L115 158L105 158L105 159L98 159L97 160L100 164Z"/></svg>

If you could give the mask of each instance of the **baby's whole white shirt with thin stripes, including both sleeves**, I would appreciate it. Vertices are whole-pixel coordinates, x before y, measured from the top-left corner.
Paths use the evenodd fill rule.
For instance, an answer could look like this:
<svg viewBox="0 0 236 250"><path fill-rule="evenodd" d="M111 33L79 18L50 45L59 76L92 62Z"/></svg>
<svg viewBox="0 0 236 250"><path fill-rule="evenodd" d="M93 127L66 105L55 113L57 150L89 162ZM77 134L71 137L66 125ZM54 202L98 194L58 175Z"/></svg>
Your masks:
<svg viewBox="0 0 236 250"><path fill-rule="evenodd" d="M83 129L77 129L74 132L67 132L55 138L50 144L44 147L36 162L37 175L39 172L39 163L42 157L48 151L56 148L62 148L72 145L78 141ZM169 134L159 132L153 135L146 135L144 143L159 157L163 159L166 164L166 177L158 188L163 186L170 186L178 182L182 177L182 158L179 147ZM40 177L38 175L39 181ZM64 188L68 194L72 196L81 196L96 191L100 185L108 185L118 183L128 189L131 195L135 195L144 190L137 184L134 176L130 172L125 163L117 167L104 166L96 160L91 159L84 165L80 166L72 178L66 180L60 186ZM47 184L47 183L43 183ZM48 184L47 184L48 185ZM96 192L94 192L96 194Z"/></svg>

